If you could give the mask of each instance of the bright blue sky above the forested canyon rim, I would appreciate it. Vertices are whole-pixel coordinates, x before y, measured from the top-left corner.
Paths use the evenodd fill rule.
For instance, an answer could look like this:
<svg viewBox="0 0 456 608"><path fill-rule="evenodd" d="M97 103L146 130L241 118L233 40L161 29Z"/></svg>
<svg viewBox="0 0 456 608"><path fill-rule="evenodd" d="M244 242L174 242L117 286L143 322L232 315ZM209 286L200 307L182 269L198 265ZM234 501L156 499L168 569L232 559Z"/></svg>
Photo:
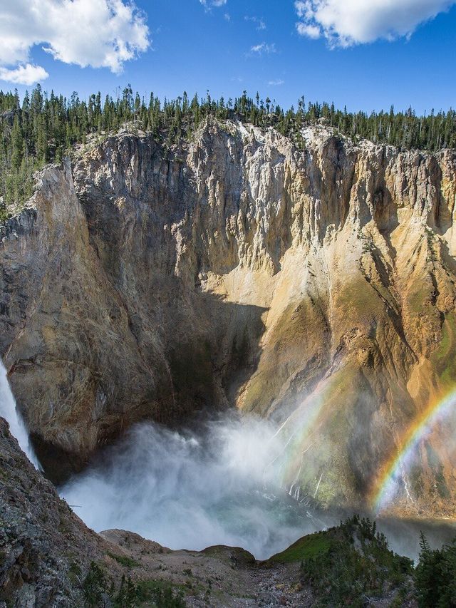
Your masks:
<svg viewBox="0 0 456 608"><path fill-rule="evenodd" d="M128 5L127 0L90 1L100 11L110 5L111 14ZM349 110L389 109L393 103L421 113L456 105L456 4L451 1L396 0L392 8L391 0L370 0L373 9L366 12L359 0L136 0L130 10L139 12L131 12L130 23L124 15L118 25L127 45L134 38L132 48L115 60L106 58L109 41L103 36L108 34L96 26L98 15L90 17L95 25L88 31L66 12L69 4L85 10L88 0L40 0L37 6L56 9L53 29L44 14L46 27L24 21L24 6L33 2L38 0L16 2L19 22L11 2L0 0L0 21L6 24L1 18L8 18L8 31L17 27L14 38L0 43L0 76L12 81L0 81L3 90L17 86L23 94L33 86L17 82L22 66L39 70L38 76L47 73L43 88L66 96L98 90L115 95L116 87L131 83L145 96L154 91L162 98L184 90L203 96L209 89L226 99L244 89L252 96L259 91L286 107L301 95ZM135 19L139 33L130 27ZM99 39L105 44L100 49Z"/></svg>

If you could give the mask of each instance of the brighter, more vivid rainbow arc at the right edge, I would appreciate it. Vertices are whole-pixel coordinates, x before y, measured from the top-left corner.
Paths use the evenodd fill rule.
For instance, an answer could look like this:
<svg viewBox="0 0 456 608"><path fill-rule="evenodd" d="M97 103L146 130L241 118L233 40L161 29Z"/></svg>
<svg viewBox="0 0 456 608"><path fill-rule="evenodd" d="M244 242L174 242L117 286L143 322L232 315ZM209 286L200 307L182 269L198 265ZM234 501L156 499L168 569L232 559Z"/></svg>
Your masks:
<svg viewBox="0 0 456 608"><path fill-rule="evenodd" d="M421 440L427 437L437 422L456 411L456 388L432 403L421 416L408 428L402 441L402 447L383 467L375 492L371 500L373 510L379 512L393 498L397 484L403 480L403 472L410 464ZM407 489L407 488L406 488Z"/></svg>

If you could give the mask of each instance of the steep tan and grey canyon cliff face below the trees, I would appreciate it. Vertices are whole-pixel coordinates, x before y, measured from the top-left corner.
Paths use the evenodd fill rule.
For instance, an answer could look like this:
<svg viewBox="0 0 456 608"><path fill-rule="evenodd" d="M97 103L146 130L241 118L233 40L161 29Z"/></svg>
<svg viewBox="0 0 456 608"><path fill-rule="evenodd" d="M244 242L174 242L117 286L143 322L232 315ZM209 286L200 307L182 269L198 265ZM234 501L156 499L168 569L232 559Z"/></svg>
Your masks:
<svg viewBox="0 0 456 608"><path fill-rule="evenodd" d="M456 154L304 136L107 138L0 229L0 351L55 476L141 418L236 404L289 439L293 493L354 503L452 389ZM451 508L450 429L415 509Z"/></svg>

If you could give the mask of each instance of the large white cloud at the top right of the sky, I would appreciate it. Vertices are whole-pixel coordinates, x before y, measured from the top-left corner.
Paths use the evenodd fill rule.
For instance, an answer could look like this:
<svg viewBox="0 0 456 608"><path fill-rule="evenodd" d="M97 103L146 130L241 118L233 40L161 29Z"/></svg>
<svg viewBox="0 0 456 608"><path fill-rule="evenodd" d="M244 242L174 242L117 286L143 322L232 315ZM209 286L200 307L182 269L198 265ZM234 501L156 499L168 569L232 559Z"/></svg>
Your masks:
<svg viewBox="0 0 456 608"><path fill-rule="evenodd" d="M453 4L455 0L298 0L294 6L299 34L348 47L410 36Z"/></svg>

